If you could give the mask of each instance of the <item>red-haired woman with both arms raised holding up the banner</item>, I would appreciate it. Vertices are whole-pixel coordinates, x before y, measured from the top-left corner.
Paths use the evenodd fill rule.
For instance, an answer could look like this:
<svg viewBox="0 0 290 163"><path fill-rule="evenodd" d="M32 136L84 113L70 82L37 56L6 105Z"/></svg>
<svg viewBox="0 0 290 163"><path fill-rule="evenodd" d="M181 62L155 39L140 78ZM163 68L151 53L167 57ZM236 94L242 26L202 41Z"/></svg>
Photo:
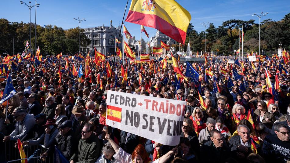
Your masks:
<svg viewBox="0 0 290 163"><path fill-rule="evenodd" d="M122 160L123 163L148 163L151 162L151 159L148 157L147 152L142 144L138 144L135 150L133 151L132 155L126 153L122 148L120 148L117 143L115 143L111 137L106 134L106 139L111 143L112 147L114 148L116 154L114 154L114 158L118 160ZM167 152L162 157L158 158L151 163L164 163L166 162L172 154L177 154L178 149L175 147L169 152Z"/></svg>

